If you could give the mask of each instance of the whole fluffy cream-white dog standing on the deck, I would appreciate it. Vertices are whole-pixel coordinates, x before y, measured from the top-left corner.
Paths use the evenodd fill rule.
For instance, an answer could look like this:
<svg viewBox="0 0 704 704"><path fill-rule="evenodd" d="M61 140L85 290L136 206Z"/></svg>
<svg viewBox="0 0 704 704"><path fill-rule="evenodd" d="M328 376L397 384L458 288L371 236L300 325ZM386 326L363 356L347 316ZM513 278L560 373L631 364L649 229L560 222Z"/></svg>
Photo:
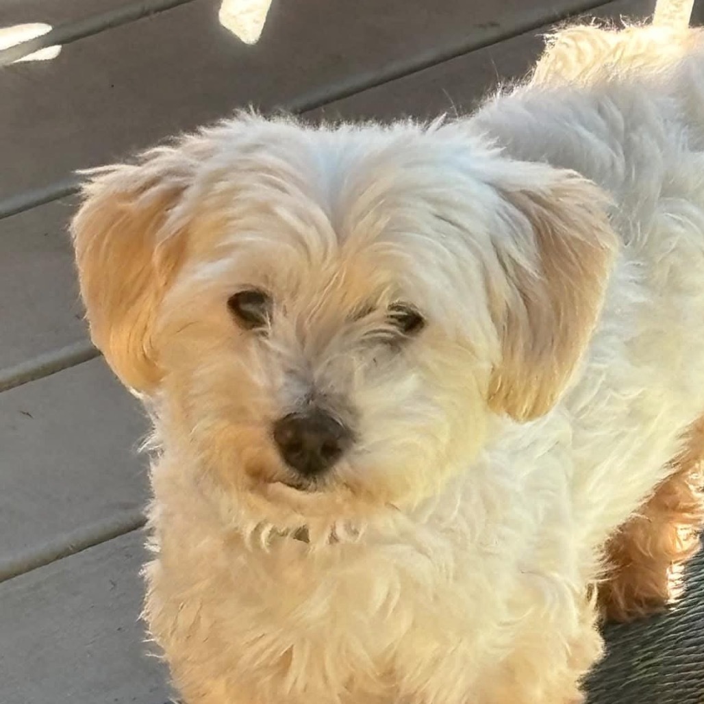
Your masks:
<svg viewBox="0 0 704 704"><path fill-rule="evenodd" d="M598 591L665 601L700 515L702 34L572 28L468 118L240 115L85 195L184 701L581 701Z"/></svg>

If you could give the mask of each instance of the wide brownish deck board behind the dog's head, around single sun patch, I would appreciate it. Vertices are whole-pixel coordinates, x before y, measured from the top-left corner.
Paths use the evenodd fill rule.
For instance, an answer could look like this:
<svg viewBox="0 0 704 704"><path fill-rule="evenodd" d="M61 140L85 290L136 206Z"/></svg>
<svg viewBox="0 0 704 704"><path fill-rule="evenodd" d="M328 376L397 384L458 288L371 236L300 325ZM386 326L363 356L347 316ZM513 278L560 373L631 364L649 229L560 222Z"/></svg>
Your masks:
<svg viewBox="0 0 704 704"><path fill-rule="evenodd" d="M194 0L87 37L0 71L0 213L238 106L323 102L598 2L279 0L248 46L218 22L220 0Z"/></svg>

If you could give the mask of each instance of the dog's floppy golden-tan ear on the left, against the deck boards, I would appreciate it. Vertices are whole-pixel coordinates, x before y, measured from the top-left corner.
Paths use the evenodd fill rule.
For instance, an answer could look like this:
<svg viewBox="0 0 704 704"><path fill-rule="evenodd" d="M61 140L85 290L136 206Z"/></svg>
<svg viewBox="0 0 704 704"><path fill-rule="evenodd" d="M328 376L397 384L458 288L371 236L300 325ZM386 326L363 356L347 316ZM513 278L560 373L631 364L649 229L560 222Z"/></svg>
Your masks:
<svg viewBox="0 0 704 704"><path fill-rule="evenodd" d="M184 258L185 228L174 213L191 178L192 163L176 149L97 170L71 225L92 341L141 393L161 379L153 324Z"/></svg>

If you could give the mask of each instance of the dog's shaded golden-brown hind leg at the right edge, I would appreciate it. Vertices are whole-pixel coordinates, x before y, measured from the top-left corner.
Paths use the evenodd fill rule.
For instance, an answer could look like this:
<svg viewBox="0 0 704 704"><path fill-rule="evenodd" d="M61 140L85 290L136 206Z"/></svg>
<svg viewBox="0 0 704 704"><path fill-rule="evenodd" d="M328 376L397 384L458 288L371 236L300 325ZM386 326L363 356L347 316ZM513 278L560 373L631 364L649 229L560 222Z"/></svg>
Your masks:
<svg viewBox="0 0 704 704"><path fill-rule="evenodd" d="M670 476L608 543L608 573L599 586L607 620L629 621L661 610L677 597L682 566L700 547L704 416L684 440Z"/></svg>

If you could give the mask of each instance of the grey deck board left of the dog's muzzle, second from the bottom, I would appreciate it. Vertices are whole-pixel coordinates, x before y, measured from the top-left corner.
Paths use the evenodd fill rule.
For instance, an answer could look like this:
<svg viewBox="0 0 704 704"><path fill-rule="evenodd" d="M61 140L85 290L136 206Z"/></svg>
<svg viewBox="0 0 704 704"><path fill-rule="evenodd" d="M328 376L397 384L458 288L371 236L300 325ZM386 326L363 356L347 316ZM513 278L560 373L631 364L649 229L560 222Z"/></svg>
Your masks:
<svg viewBox="0 0 704 704"><path fill-rule="evenodd" d="M0 580L142 521L145 431L102 359L0 394Z"/></svg>

